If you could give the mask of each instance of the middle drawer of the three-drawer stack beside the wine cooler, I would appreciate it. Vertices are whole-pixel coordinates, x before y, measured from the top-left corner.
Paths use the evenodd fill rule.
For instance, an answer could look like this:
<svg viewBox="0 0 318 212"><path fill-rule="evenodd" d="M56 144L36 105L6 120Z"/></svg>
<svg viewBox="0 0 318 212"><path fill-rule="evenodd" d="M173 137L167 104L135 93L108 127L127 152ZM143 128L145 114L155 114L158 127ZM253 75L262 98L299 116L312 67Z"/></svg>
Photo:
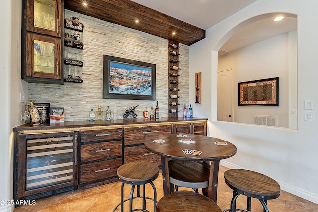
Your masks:
<svg viewBox="0 0 318 212"><path fill-rule="evenodd" d="M81 162L107 159L122 155L122 141L91 143L80 146Z"/></svg>

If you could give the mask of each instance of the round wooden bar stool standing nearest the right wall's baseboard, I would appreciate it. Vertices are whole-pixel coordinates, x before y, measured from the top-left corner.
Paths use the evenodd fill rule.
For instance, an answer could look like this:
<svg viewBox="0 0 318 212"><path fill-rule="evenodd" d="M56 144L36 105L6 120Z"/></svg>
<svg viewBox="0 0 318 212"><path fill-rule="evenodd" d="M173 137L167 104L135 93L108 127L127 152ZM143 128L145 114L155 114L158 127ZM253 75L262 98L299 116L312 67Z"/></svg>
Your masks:
<svg viewBox="0 0 318 212"><path fill-rule="evenodd" d="M244 169L230 169L224 172L225 183L233 189L231 208L223 212L247 212L236 209L236 199L240 194L247 196L247 210L251 211L251 198L257 198L263 205L264 212L269 212L267 200L279 197L280 186L272 178Z"/></svg>

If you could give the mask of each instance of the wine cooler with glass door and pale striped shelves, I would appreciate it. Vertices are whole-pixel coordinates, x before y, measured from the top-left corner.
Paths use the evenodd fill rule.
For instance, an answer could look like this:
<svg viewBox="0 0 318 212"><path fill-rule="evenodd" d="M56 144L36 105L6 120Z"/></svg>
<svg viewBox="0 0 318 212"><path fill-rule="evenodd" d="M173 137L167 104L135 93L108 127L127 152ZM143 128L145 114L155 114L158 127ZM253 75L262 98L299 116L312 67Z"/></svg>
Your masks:
<svg viewBox="0 0 318 212"><path fill-rule="evenodd" d="M78 131L21 133L14 143L14 199L38 199L77 189ZM24 162L23 162L24 161Z"/></svg>

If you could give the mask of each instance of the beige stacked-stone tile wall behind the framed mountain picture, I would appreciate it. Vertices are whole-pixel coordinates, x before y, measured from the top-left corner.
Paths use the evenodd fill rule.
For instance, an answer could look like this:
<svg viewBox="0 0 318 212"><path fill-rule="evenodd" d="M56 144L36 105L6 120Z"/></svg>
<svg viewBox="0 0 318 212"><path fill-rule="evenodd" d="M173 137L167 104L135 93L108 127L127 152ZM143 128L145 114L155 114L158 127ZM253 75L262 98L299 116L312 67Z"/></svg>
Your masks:
<svg viewBox="0 0 318 212"><path fill-rule="evenodd" d="M122 119L122 114L129 107L139 105L135 112L137 118L142 118L145 107L155 108L156 101L103 99L103 55L111 55L137 61L156 64L156 100L159 102L160 116L168 116L168 40L130 29L117 24L102 21L90 16L72 11L65 11L65 17L76 16L84 24L81 40L83 50L65 48L72 54L73 59L84 62L78 68L77 75L83 83L28 84L28 99L36 102L51 103L51 107L64 107L66 121L87 120L90 108L97 110L99 104L105 111L110 106L114 118ZM176 37L177 40L177 37ZM179 53L179 110L183 110L184 103L188 104L189 96L189 46L180 44ZM65 77L68 68L65 66ZM74 70L72 68L72 72ZM182 113L179 114L182 116ZM104 117L105 119L105 113Z"/></svg>

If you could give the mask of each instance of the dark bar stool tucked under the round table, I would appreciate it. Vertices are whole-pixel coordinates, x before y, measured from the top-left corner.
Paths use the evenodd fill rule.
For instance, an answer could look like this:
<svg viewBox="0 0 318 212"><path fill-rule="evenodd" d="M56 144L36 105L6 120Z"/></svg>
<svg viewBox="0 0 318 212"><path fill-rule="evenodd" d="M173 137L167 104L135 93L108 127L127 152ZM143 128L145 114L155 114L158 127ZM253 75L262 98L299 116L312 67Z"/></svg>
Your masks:
<svg viewBox="0 0 318 212"><path fill-rule="evenodd" d="M203 189L207 193L210 177L210 165L205 162L191 160L170 160L169 162L170 190L174 186ZM177 190L176 188L176 190Z"/></svg>

